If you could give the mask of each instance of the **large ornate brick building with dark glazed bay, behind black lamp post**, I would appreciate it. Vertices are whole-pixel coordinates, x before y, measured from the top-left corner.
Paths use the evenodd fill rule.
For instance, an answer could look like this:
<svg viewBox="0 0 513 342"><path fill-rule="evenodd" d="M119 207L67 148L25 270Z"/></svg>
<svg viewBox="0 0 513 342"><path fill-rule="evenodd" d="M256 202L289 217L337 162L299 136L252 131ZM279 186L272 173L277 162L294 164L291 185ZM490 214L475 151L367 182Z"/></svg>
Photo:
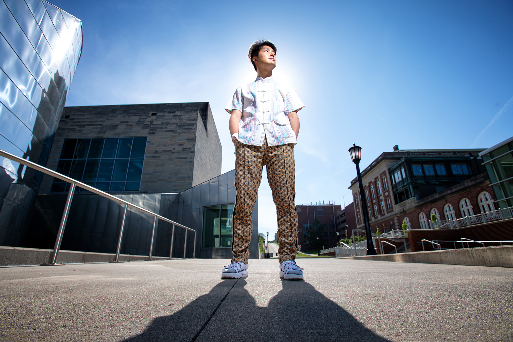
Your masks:
<svg viewBox="0 0 513 342"><path fill-rule="evenodd" d="M378 227L381 232L401 229L403 220L410 229L427 229L431 214L459 218L463 212L477 210L479 198L483 203L493 203L486 169L478 156L484 149L400 150L397 145L393 149L362 171L373 232ZM356 178L349 189L356 225L364 229Z"/></svg>

